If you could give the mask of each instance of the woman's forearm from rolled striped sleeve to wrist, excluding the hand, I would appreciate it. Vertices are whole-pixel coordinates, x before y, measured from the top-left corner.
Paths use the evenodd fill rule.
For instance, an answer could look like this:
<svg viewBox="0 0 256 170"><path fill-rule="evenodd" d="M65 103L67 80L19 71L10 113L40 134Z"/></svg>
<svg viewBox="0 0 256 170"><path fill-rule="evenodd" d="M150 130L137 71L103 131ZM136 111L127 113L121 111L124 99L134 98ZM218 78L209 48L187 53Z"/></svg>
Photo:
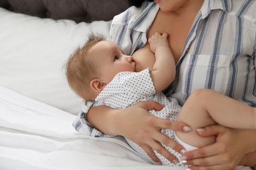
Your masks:
<svg viewBox="0 0 256 170"><path fill-rule="evenodd" d="M90 124L107 135L119 135L114 128L114 118L118 110L106 106L92 107L87 113Z"/></svg>

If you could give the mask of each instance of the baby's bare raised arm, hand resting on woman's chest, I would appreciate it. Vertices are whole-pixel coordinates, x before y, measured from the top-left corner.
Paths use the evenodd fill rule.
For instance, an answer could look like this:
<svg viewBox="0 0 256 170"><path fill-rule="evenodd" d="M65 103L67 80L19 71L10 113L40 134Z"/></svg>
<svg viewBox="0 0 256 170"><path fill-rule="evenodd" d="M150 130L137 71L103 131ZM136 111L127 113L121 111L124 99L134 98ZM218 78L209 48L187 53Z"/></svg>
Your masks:
<svg viewBox="0 0 256 170"><path fill-rule="evenodd" d="M167 41L167 33L156 32L148 40L150 49L156 56L156 62L150 73L156 92L167 88L173 82L176 74L175 60Z"/></svg>

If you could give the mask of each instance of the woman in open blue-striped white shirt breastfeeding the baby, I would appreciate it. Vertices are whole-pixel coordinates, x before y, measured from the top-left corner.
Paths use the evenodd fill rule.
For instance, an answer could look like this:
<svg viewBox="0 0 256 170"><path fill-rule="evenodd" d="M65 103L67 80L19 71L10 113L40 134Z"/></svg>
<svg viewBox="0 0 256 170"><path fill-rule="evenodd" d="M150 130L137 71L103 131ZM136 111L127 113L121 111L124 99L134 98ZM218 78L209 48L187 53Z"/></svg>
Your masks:
<svg viewBox="0 0 256 170"><path fill-rule="evenodd" d="M125 54L138 56L137 63L154 62L147 38L167 32L177 63L176 81L165 91L180 105L198 88L210 88L255 107L255 1L156 0L130 2L137 5L114 18L112 39ZM140 49L141 48L141 49ZM140 50L139 50L140 49ZM140 52L148 50L148 57ZM146 61L146 64L145 64ZM144 69L137 64L136 69ZM148 66L147 66L148 67ZM148 114L160 109L154 102L138 103L124 110L107 107L90 109L87 119L92 126L109 135L123 135L139 144L158 162L152 148L170 161L175 160L160 143L179 151L182 147L160 133L161 128L182 131L182 124L167 122ZM127 128L129 127L129 128ZM205 127L200 135L217 135L217 143L182 158L192 169L234 169L253 166L256 159L256 131ZM236 141L236 143L234 143ZM245 146L246 143L246 146Z"/></svg>

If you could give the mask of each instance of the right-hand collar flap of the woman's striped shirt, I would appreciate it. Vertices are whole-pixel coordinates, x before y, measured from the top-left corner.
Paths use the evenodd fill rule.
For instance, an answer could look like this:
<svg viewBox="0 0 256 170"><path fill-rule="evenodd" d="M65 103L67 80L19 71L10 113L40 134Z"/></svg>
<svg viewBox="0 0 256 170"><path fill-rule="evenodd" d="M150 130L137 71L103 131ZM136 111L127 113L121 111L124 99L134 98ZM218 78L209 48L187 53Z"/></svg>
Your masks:
<svg viewBox="0 0 256 170"><path fill-rule="evenodd" d="M203 2L201 12L202 18L206 18L211 10L220 9L225 12L230 12L231 10L231 0L205 0Z"/></svg>

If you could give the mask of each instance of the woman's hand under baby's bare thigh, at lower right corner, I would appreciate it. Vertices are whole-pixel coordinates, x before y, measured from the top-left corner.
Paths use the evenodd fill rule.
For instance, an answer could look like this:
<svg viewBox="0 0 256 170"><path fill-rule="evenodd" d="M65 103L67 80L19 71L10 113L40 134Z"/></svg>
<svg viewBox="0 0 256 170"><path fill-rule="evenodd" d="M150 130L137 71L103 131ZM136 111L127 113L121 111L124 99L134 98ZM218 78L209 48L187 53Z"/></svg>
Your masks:
<svg viewBox="0 0 256 170"><path fill-rule="evenodd" d="M235 169L243 156L255 151L255 130L230 129L220 125L205 127L202 136L216 135L216 143L183 154L190 169Z"/></svg>

